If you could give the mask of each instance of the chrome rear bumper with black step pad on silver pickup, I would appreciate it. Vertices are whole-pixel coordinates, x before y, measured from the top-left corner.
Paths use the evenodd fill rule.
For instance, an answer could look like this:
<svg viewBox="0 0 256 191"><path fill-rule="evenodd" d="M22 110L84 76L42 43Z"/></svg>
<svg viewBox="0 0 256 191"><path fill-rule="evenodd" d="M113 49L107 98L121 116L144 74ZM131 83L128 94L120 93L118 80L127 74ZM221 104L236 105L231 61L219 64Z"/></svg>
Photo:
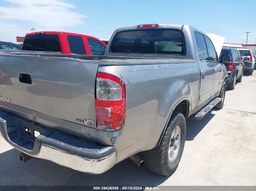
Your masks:
<svg viewBox="0 0 256 191"><path fill-rule="evenodd" d="M34 131L40 132L36 138ZM116 150L112 146L99 146L1 110L0 135L25 154L81 172L100 174L115 164Z"/></svg>

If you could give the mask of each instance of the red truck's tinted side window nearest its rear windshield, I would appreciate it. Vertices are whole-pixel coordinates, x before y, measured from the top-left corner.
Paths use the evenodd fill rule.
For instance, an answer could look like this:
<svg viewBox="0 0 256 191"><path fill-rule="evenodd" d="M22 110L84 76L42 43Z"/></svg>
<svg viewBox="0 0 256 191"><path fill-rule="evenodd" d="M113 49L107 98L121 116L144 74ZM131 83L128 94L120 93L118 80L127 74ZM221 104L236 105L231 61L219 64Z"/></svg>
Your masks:
<svg viewBox="0 0 256 191"><path fill-rule="evenodd" d="M71 54L86 54L82 37L68 35L68 44Z"/></svg>

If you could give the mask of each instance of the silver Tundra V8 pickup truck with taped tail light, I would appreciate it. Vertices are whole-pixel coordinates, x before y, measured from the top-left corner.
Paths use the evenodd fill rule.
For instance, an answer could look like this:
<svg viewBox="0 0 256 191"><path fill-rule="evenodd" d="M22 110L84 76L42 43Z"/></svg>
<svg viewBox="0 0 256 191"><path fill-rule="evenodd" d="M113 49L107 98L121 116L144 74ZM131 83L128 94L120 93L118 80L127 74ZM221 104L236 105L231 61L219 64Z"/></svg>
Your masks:
<svg viewBox="0 0 256 191"><path fill-rule="evenodd" d="M221 109L228 80L209 37L187 25L118 28L105 56L0 52L3 138L23 162L92 174L129 157L174 173L186 120Z"/></svg>

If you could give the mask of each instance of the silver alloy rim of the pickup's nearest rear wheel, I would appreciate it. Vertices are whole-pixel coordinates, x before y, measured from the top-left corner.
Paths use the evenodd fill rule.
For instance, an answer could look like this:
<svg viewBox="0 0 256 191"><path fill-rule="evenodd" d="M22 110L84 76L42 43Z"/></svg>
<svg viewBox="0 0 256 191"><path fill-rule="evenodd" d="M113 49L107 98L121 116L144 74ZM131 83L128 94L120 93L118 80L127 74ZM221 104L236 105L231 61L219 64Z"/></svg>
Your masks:
<svg viewBox="0 0 256 191"><path fill-rule="evenodd" d="M173 130L173 132L171 133L171 140L169 143L168 158L170 162L175 160L180 148L180 144L181 144L181 128L180 126L177 125Z"/></svg>

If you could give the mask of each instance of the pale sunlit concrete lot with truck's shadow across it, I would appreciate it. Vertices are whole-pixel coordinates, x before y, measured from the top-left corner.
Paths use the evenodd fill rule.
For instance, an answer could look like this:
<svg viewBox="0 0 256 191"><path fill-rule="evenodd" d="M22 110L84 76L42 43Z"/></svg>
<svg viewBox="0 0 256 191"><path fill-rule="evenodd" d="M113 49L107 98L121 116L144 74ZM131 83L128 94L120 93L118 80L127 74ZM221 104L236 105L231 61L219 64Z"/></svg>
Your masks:
<svg viewBox="0 0 256 191"><path fill-rule="evenodd" d="M181 162L171 177L130 159L100 175L49 161L18 161L19 151L0 137L0 185L256 185L256 71L226 92L224 108L188 119Z"/></svg>

